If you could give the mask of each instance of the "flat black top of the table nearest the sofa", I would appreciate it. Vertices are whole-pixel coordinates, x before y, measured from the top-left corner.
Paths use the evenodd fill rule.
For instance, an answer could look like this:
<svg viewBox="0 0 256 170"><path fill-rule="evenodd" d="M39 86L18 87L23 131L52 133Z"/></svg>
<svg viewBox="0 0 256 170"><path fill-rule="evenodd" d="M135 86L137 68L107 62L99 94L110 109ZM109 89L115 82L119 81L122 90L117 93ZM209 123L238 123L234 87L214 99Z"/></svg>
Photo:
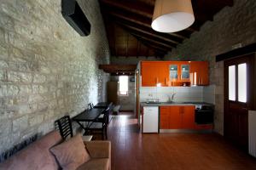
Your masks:
<svg viewBox="0 0 256 170"><path fill-rule="evenodd" d="M93 122L96 120L98 116L102 114L102 112L105 111L104 109L91 109L86 110L80 113L78 116L73 117L73 121L76 122Z"/></svg>

